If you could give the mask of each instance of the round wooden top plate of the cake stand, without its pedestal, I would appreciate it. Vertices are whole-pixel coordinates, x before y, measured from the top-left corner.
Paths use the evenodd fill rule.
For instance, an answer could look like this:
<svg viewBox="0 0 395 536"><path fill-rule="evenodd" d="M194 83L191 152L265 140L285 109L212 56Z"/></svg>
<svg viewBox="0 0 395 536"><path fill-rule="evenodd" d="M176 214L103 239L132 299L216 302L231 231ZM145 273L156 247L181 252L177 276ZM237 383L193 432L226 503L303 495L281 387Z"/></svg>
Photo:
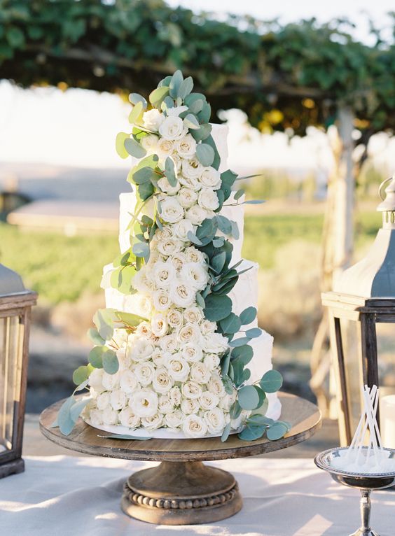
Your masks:
<svg viewBox="0 0 395 536"><path fill-rule="evenodd" d="M64 436L59 428L50 428L63 400L43 411L40 428L43 435L66 449L85 454L123 458L125 460L153 461L197 461L223 460L225 458L242 458L257 454L286 449L311 437L321 426L321 414L317 406L303 398L286 393L279 394L282 402L282 416L289 421L292 428L282 439L271 442L268 439L256 439L246 442L237 435L231 435L225 443L219 437L203 439L148 439L130 441L128 439L103 439L98 437L105 432L97 430L78 419L76 427L69 436Z"/></svg>

